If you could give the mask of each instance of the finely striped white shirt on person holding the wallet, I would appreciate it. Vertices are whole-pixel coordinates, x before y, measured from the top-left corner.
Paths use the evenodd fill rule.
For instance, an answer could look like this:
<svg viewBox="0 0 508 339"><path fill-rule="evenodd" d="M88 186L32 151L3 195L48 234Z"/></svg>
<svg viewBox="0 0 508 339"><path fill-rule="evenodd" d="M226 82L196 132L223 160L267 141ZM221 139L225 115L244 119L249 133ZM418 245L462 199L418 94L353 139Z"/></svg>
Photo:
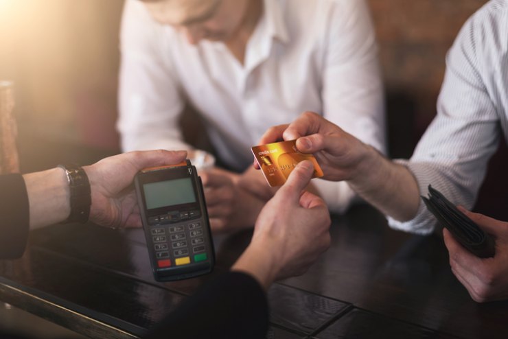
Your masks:
<svg viewBox="0 0 508 339"><path fill-rule="evenodd" d="M508 141L508 1L489 1L462 27L446 59L437 116L410 161L422 195L429 184L454 204L471 208L487 163L505 135ZM435 218L420 203L410 222L395 229L430 233Z"/></svg>

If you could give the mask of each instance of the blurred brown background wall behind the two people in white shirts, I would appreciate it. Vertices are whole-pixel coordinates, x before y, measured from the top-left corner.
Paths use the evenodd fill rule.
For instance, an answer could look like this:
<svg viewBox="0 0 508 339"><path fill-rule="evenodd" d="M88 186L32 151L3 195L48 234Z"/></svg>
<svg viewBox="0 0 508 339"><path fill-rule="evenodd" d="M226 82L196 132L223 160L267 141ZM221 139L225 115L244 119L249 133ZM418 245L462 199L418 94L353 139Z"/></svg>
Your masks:
<svg viewBox="0 0 508 339"><path fill-rule="evenodd" d="M380 45L391 156L408 157L436 113L446 51L485 0L369 0ZM23 172L119 152L122 0L0 0L0 80L13 80ZM187 119L192 126L196 119ZM197 123L196 123L197 124ZM193 126L194 127L194 126ZM199 133L194 131L194 137ZM506 146L477 209L507 218Z"/></svg>

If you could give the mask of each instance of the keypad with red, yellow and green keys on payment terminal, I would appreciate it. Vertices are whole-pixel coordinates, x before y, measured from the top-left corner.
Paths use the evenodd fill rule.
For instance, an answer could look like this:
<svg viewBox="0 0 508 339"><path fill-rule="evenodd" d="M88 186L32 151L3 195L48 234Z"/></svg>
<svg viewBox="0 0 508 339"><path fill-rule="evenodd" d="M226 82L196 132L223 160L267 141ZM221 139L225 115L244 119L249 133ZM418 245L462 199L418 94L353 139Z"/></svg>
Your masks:
<svg viewBox="0 0 508 339"><path fill-rule="evenodd" d="M199 219L196 221L196 212L172 212L148 218L159 268L183 266L208 259L203 224ZM189 215L193 220L189 220Z"/></svg>

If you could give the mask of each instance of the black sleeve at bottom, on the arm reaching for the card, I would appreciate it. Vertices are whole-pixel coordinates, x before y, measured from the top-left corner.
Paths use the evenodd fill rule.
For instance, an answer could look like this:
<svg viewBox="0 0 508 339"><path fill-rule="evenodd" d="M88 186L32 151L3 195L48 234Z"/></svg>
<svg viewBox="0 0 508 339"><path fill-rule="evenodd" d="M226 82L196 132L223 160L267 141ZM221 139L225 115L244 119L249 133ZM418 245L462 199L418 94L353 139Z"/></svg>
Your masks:
<svg viewBox="0 0 508 339"><path fill-rule="evenodd" d="M147 338L265 338L268 302L249 274L228 272L189 296Z"/></svg>

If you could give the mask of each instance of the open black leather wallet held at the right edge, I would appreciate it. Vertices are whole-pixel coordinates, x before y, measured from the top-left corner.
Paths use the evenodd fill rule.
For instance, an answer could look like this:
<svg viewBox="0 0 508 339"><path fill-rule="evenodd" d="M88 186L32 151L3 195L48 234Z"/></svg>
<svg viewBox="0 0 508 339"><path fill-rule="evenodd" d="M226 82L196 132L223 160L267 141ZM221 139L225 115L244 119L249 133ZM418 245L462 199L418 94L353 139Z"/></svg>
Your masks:
<svg viewBox="0 0 508 339"><path fill-rule="evenodd" d="M459 211L441 192L428 185L428 198L422 196L427 209L457 239L464 248L476 257L494 257L494 238L485 233L470 218Z"/></svg>

